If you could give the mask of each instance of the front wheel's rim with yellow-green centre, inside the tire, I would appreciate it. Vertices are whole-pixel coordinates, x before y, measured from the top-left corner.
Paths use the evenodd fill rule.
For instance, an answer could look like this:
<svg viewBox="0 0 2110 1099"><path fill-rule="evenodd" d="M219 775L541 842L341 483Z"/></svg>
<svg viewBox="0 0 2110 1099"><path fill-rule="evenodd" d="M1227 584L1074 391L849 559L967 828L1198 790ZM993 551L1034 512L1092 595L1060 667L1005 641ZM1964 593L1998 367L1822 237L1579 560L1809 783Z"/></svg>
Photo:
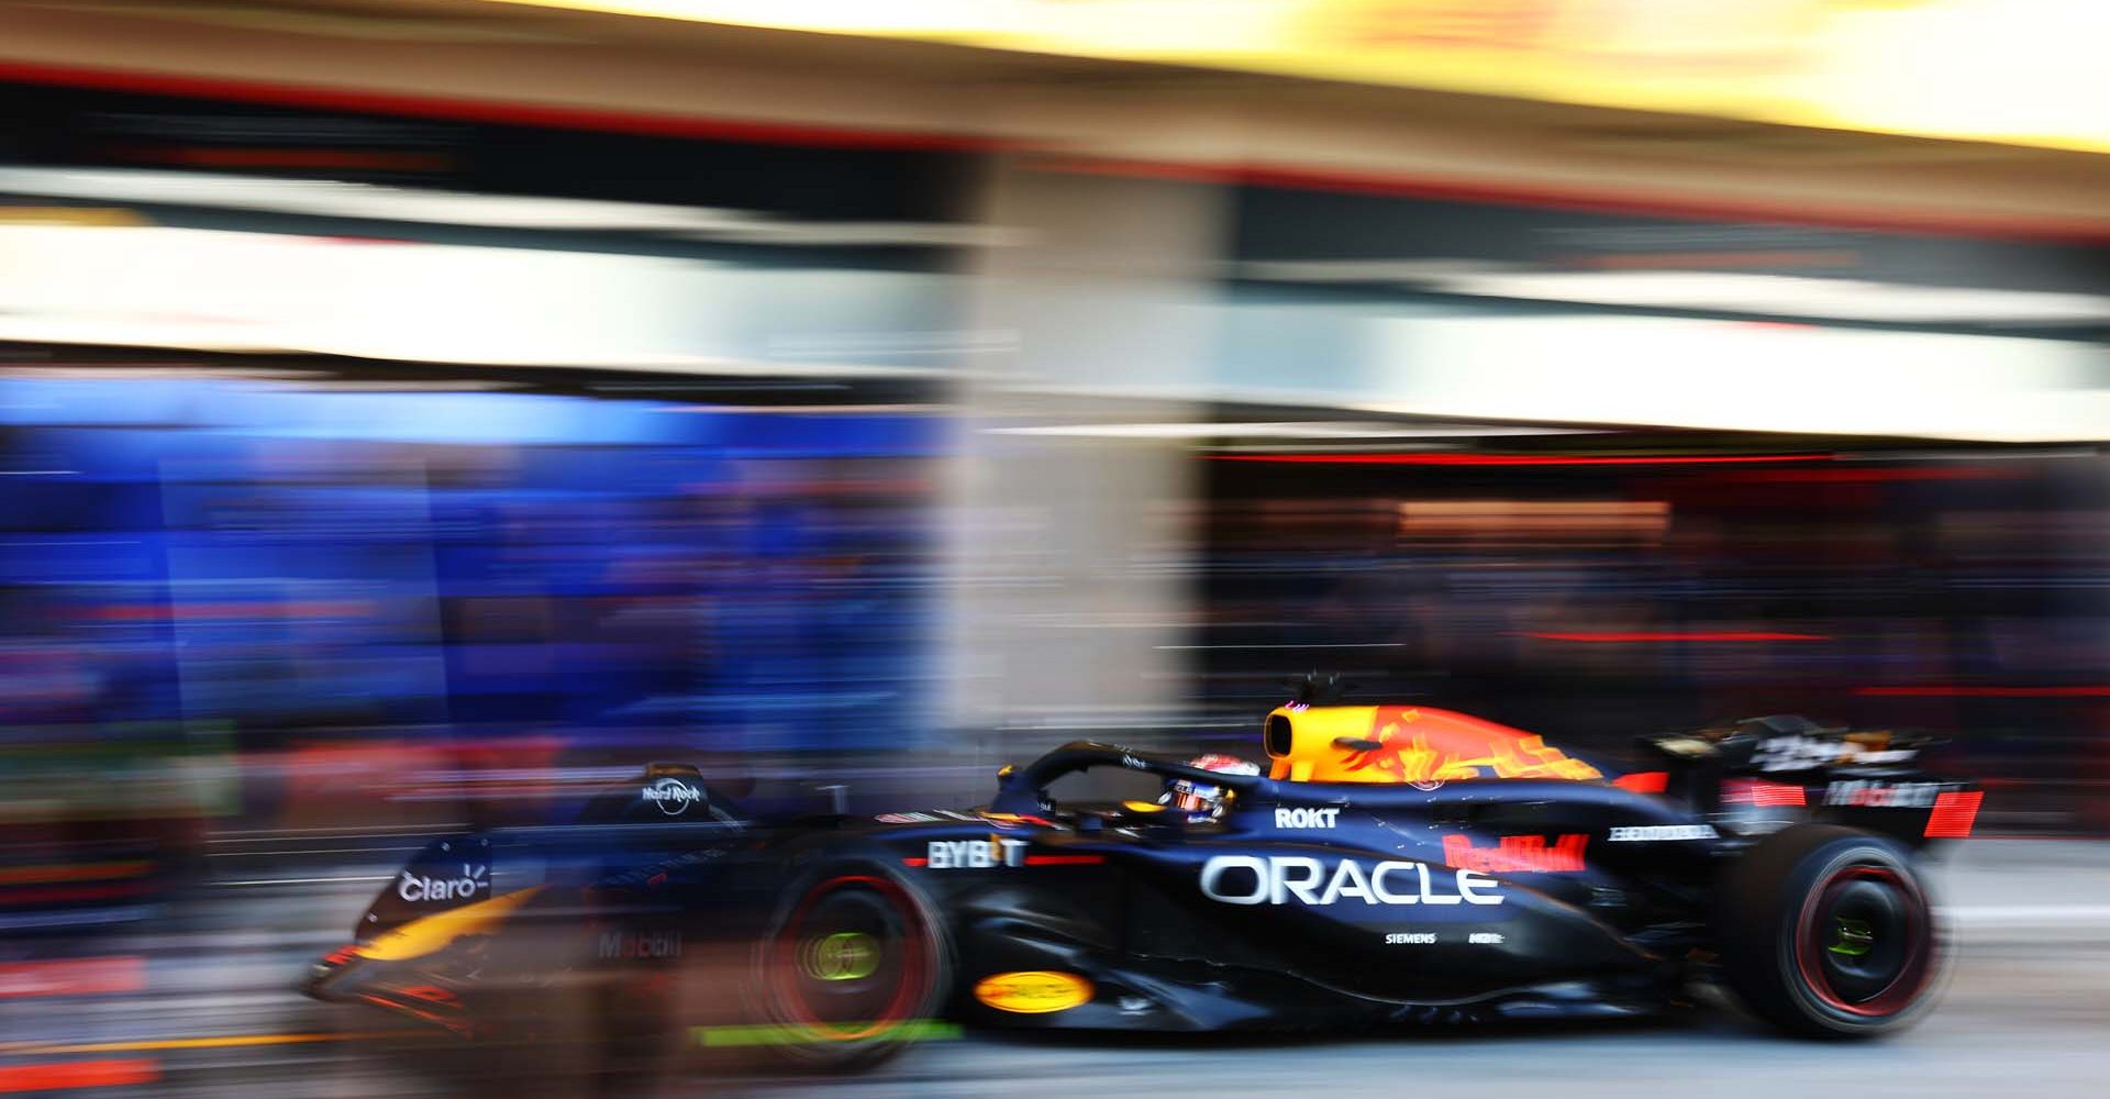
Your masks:
<svg viewBox="0 0 2110 1099"><path fill-rule="evenodd" d="M776 932L772 987L800 1038L859 1042L907 1023L928 987L928 926L876 875L814 884Z"/></svg>

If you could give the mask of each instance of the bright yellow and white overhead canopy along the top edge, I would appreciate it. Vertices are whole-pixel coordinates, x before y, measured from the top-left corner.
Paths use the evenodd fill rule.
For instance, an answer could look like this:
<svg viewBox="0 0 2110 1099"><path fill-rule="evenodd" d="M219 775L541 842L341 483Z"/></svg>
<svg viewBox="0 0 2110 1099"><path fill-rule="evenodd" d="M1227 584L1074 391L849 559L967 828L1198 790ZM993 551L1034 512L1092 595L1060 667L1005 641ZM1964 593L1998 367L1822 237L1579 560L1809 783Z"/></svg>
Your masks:
<svg viewBox="0 0 2110 1099"><path fill-rule="evenodd" d="M2095 0L500 0L2110 150Z"/></svg>

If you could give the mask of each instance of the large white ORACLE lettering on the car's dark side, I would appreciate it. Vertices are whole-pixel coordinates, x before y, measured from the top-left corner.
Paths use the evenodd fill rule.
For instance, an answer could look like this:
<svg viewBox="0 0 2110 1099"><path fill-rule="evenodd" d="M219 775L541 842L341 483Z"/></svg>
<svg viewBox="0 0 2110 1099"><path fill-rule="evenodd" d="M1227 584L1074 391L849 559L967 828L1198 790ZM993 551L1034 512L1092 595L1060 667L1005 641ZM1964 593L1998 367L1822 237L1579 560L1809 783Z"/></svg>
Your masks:
<svg viewBox="0 0 2110 1099"><path fill-rule="evenodd" d="M1500 905L1502 894L1485 873L1431 869L1426 863L1384 861L1372 869L1342 859L1331 873L1302 854L1217 854L1201 867L1201 892L1226 905Z"/></svg>

